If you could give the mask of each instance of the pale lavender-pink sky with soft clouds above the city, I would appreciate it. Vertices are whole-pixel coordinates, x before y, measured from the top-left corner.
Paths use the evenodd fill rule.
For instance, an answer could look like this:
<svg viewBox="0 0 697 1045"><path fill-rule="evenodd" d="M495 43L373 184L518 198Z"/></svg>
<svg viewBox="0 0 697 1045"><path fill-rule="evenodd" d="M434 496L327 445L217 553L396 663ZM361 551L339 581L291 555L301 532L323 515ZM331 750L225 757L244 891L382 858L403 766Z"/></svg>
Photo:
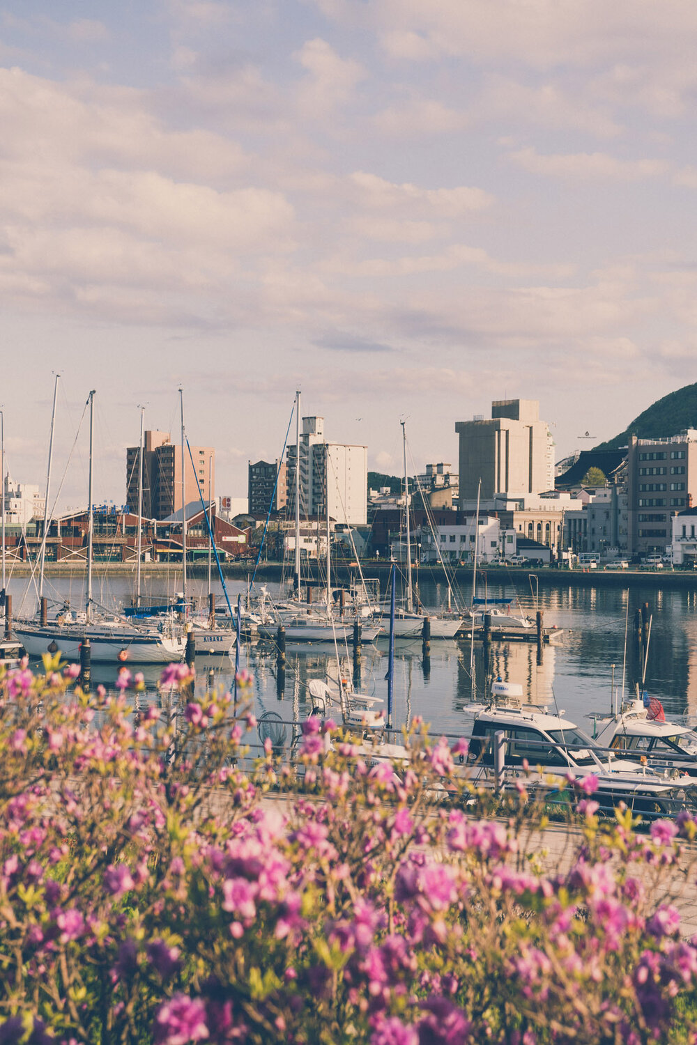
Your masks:
<svg viewBox="0 0 697 1045"><path fill-rule="evenodd" d="M5 452L121 504L125 446L369 468L539 399L560 459L696 378L694 0L0 0ZM71 447L75 446L70 465Z"/></svg>

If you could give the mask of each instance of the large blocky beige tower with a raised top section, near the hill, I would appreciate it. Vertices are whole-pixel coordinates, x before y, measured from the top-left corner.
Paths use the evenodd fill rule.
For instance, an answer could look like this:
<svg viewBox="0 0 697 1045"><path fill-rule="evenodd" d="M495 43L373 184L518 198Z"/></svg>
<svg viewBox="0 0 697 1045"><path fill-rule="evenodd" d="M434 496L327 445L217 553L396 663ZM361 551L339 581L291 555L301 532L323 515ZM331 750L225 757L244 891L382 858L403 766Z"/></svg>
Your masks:
<svg viewBox="0 0 697 1045"><path fill-rule="evenodd" d="M536 399L498 399L491 418L458 421L460 436L460 504L497 493L509 497L554 489L553 440L539 419Z"/></svg>

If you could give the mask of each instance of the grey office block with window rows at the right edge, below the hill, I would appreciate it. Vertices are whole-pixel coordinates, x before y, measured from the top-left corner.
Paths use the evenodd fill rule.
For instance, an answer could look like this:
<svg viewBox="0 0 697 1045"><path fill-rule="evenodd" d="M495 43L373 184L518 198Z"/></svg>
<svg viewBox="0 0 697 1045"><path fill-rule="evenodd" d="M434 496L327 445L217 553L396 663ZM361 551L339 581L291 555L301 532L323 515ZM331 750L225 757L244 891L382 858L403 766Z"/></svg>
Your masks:
<svg viewBox="0 0 697 1045"><path fill-rule="evenodd" d="M637 439L627 450L629 551L660 552L672 540L672 518L692 508L697 492L697 429L670 439Z"/></svg>

